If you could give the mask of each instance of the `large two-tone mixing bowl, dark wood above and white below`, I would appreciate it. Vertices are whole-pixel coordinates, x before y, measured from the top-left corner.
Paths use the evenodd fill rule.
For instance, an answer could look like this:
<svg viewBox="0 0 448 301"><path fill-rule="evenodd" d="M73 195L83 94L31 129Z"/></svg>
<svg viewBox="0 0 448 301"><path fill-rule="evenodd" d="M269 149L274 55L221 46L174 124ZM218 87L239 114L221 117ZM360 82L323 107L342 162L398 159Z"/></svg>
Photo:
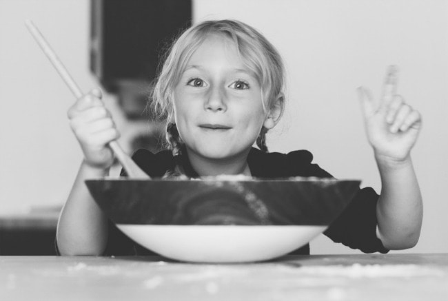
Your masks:
<svg viewBox="0 0 448 301"><path fill-rule="evenodd" d="M269 260L327 229L359 180L86 180L127 236L167 258L190 262Z"/></svg>

